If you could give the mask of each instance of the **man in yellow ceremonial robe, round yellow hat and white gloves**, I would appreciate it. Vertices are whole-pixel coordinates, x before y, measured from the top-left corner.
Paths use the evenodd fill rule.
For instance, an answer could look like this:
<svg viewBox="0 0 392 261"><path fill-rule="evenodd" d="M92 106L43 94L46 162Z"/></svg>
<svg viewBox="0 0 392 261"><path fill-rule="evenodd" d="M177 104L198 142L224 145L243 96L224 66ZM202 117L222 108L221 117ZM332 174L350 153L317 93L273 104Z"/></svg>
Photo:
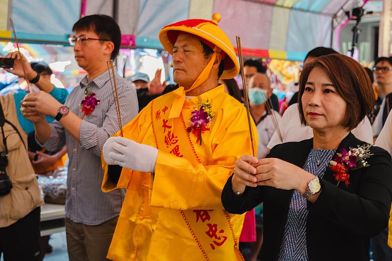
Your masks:
<svg viewBox="0 0 392 261"><path fill-rule="evenodd" d="M109 259L243 260L244 215L223 209L221 190L252 146L245 107L218 84L239 72L220 20L214 14L161 30L180 88L150 102L124 137L103 147L102 190L128 189ZM257 154L257 138L253 143Z"/></svg>

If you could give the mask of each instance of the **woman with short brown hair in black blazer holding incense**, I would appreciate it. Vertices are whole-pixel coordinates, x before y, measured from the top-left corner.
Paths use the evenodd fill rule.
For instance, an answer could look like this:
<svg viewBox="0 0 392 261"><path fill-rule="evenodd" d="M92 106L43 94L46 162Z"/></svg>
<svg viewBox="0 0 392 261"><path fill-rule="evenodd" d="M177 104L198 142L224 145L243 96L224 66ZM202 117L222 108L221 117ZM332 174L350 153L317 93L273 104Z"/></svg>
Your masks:
<svg viewBox="0 0 392 261"><path fill-rule="evenodd" d="M357 150L356 159L372 154L357 162L350 151L367 149L350 130L372 104L359 63L341 54L319 57L299 79L300 118L314 138L277 145L266 159L237 161L222 203L242 214L264 202L263 260L369 260L369 238L387 227L392 198L389 153L371 146ZM351 162L337 158L342 149Z"/></svg>

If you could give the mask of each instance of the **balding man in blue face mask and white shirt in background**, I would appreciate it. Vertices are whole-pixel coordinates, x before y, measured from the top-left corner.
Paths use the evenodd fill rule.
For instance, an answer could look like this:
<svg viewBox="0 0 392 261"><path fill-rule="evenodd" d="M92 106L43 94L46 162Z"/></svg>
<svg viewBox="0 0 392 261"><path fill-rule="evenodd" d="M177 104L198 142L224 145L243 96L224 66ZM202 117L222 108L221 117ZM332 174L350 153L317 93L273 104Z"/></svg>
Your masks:
<svg viewBox="0 0 392 261"><path fill-rule="evenodd" d="M270 149L267 147L268 142L275 132L272 115L266 106L266 100L271 96L271 81L265 73L257 72L249 80L249 101L250 114L256 123L257 134L259 135L259 149L257 158L266 157ZM273 111L275 118L280 124L281 116L278 112Z"/></svg>

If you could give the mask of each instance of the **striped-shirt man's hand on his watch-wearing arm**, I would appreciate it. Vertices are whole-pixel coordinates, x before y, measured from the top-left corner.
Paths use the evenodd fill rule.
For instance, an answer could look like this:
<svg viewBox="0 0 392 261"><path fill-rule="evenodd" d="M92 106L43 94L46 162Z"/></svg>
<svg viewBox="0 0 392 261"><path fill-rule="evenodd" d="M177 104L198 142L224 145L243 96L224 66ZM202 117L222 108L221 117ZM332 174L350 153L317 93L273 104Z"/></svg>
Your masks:
<svg viewBox="0 0 392 261"><path fill-rule="evenodd" d="M52 95L43 91L31 93L22 100L22 113L37 112L39 114L56 117L58 109L62 106Z"/></svg>

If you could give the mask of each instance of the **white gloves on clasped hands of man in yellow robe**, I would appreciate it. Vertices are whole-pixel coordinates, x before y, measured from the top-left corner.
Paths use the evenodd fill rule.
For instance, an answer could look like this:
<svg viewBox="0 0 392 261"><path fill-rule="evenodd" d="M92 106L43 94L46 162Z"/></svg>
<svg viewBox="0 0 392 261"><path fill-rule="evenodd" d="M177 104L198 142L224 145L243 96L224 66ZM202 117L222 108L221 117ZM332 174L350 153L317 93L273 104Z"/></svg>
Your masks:
<svg viewBox="0 0 392 261"><path fill-rule="evenodd" d="M155 172L157 156L158 149L123 137L111 137L103 146L107 164L141 172Z"/></svg>

